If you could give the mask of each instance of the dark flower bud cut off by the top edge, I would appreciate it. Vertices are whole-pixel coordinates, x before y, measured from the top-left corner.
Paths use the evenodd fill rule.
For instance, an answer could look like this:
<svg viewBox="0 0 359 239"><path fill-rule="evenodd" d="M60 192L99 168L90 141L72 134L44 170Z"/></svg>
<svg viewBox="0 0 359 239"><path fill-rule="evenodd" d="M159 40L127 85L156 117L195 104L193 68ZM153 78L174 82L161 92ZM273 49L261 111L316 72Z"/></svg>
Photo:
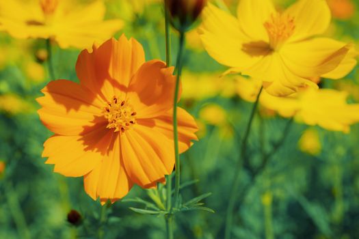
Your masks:
<svg viewBox="0 0 359 239"><path fill-rule="evenodd" d="M207 0L165 0L165 8L170 14L172 26L185 32L196 21Z"/></svg>

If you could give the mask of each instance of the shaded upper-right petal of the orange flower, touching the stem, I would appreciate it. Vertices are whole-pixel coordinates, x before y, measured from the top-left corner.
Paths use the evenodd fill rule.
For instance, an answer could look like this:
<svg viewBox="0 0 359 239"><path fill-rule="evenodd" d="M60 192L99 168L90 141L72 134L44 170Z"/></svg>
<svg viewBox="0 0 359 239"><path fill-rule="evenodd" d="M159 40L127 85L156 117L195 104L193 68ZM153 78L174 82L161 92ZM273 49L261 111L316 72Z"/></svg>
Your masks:
<svg viewBox="0 0 359 239"><path fill-rule="evenodd" d="M152 60L133 76L127 99L135 108L137 119L155 117L172 108L176 84L173 69L166 68L163 61Z"/></svg>

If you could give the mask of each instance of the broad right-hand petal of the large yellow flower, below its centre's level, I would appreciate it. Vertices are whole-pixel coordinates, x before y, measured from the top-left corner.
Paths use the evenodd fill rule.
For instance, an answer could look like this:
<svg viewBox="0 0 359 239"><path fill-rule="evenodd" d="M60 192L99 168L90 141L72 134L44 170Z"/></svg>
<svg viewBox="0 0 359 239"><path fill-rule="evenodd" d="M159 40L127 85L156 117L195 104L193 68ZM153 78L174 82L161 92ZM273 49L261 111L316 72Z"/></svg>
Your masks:
<svg viewBox="0 0 359 239"><path fill-rule="evenodd" d="M346 59L349 62L344 69L341 62L353 46L338 42L330 38L315 38L302 42L284 44L280 50L283 61L291 71L298 76L310 78L321 76L336 68L342 72L348 72L353 68L353 58Z"/></svg>

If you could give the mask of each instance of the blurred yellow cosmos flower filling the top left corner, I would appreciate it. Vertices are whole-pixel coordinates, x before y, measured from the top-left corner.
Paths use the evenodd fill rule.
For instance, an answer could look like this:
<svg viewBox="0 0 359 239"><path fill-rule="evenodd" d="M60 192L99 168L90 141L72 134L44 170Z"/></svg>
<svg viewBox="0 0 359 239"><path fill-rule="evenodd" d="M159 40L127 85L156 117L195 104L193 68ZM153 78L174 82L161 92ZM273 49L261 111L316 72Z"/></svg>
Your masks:
<svg viewBox="0 0 359 239"><path fill-rule="evenodd" d="M70 0L0 1L0 25L14 38L51 38L60 47L88 48L122 27L120 20L103 20L105 5L81 5Z"/></svg>

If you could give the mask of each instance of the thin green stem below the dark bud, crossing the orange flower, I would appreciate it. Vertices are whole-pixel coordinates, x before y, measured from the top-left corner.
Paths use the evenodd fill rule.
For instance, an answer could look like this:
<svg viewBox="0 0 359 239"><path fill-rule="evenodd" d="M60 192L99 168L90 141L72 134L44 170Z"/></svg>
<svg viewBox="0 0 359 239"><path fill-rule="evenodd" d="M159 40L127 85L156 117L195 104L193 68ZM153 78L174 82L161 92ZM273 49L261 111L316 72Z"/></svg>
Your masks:
<svg viewBox="0 0 359 239"><path fill-rule="evenodd" d="M182 55L183 55L183 46L185 45L185 33L180 32L179 40L179 49L176 61L177 76L176 76L176 87L174 89L174 101L173 101L173 139L174 139L174 156L176 159L176 167L174 171L174 205L177 206L179 189L180 189L180 158L178 150L178 130L177 130L177 101L178 101L178 91L180 85L180 77L182 72Z"/></svg>

